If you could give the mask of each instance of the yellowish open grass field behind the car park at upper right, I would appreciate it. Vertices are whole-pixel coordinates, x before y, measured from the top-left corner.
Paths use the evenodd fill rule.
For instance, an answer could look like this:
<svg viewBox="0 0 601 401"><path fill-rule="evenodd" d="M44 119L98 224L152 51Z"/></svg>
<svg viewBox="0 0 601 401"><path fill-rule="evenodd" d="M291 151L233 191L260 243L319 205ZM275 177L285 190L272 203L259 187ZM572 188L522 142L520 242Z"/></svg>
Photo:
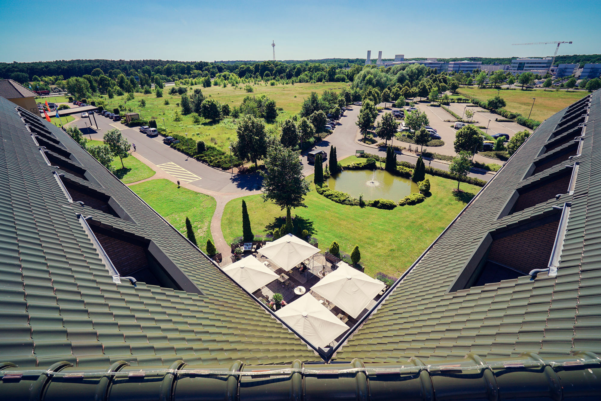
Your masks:
<svg viewBox="0 0 601 401"><path fill-rule="evenodd" d="M460 88L460 94L473 96L479 100L486 101L497 94L497 89L478 89L478 88ZM528 117L530 108L532 107L532 98L535 97L534 108L532 109L531 119L544 121L550 116L564 109L570 104L588 95L587 91L543 91L543 89L501 89L499 95L505 99L507 106L505 109L510 112L522 113Z"/></svg>

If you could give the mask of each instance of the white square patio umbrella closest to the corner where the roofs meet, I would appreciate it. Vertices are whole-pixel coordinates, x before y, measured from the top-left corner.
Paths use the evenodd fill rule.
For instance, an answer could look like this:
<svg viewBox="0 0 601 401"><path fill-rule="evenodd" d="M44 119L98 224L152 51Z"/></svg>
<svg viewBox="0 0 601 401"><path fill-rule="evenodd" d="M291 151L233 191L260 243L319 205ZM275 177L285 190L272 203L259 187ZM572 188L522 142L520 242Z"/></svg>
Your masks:
<svg viewBox="0 0 601 401"><path fill-rule="evenodd" d="M301 298L275 312L314 346L324 348L349 327L340 321L313 295L305 294Z"/></svg>

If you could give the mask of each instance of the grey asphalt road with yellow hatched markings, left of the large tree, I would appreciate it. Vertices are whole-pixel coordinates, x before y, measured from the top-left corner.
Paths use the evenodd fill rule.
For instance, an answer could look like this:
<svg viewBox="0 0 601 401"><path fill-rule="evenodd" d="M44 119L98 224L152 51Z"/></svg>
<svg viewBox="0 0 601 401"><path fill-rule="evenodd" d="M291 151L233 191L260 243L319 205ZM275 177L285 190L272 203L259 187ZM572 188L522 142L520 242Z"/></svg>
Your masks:
<svg viewBox="0 0 601 401"><path fill-rule="evenodd" d="M94 124L94 117L91 118L91 122ZM127 128L121 122L112 121L102 115L96 115L96 122L99 130L95 133L95 130L86 129L90 125L90 121L87 118L79 119L73 122L73 124L77 125L80 129L84 128L84 132L91 139L99 140L102 140L102 136L106 131L112 128L120 128L121 134L129 140L129 143L136 144L136 152L139 155L156 164L165 172L175 176L175 178L186 180L190 185L225 193L239 193L241 191L260 189L261 178L258 175L231 175L230 172L214 169L194 158L188 158L185 154L163 144L163 137L160 135L154 138L148 137L142 134L138 130L138 127ZM91 132L91 136L88 132ZM198 179L195 179L195 176Z"/></svg>

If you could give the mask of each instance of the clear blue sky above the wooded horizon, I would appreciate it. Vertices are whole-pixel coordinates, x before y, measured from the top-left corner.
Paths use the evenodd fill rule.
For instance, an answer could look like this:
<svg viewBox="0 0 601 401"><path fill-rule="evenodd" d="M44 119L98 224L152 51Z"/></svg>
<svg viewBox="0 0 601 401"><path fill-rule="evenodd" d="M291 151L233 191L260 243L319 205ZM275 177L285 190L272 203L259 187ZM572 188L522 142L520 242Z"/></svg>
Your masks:
<svg viewBox="0 0 601 401"><path fill-rule="evenodd" d="M573 5L573 7L572 7ZM601 53L601 2L0 0L0 62Z"/></svg>

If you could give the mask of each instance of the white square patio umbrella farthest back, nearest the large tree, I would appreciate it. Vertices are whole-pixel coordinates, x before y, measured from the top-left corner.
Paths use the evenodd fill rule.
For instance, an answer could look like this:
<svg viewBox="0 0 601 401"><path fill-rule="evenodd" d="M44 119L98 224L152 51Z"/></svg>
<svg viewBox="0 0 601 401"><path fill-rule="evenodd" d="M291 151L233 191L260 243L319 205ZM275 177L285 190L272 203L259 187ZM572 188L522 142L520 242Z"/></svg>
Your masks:
<svg viewBox="0 0 601 401"><path fill-rule="evenodd" d="M319 249L307 243L307 241L301 240L301 238L287 234L260 248L257 252L288 271L310 256L315 255L319 252Z"/></svg>

